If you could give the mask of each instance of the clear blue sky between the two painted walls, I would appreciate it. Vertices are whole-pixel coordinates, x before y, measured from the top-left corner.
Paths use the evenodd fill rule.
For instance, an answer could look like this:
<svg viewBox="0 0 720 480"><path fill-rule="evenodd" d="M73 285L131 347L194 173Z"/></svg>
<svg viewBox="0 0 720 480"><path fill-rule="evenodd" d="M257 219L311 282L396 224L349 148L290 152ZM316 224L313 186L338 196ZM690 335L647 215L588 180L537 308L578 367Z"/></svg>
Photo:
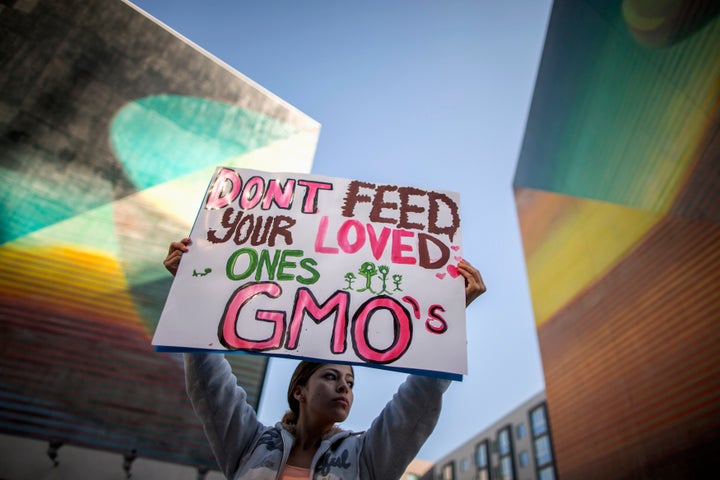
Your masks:
<svg viewBox="0 0 720 480"><path fill-rule="evenodd" d="M512 180L551 0L137 0L322 124L312 173L460 193L464 256L488 292L467 312L469 374L419 458L435 461L544 388ZM296 362L272 359L275 423ZM356 369L363 430L404 374Z"/></svg>

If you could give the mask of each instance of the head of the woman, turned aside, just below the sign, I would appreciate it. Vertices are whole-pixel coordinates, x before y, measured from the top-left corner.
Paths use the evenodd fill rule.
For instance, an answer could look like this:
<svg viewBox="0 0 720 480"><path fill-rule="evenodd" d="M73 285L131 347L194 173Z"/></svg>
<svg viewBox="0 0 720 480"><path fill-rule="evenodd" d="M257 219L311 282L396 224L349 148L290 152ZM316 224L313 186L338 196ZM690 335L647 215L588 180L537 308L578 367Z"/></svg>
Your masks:
<svg viewBox="0 0 720 480"><path fill-rule="evenodd" d="M309 416L306 420L321 423L344 421L352 407L354 381L349 365L321 366L313 372L306 385L298 387L300 414Z"/></svg>

